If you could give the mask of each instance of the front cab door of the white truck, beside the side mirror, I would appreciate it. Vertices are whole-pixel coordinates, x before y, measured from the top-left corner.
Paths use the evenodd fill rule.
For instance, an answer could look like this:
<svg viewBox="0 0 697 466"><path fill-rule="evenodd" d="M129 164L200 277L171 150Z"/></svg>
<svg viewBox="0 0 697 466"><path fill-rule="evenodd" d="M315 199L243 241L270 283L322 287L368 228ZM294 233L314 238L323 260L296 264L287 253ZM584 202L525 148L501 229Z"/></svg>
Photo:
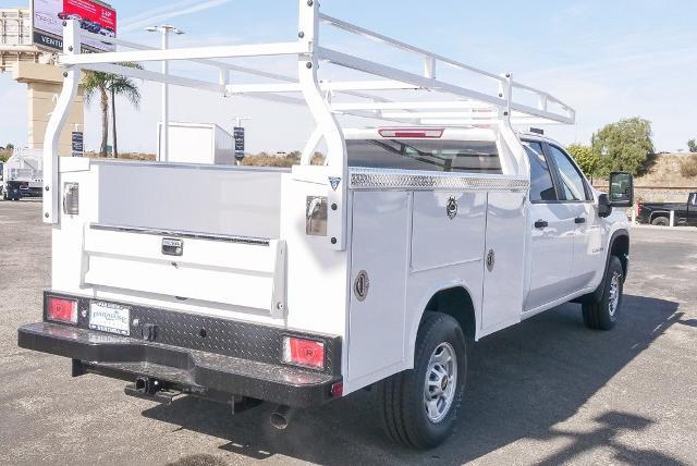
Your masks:
<svg viewBox="0 0 697 466"><path fill-rule="evenodd" d="M571 157L560 147L548 145L549 154L557 165L560 195L564 205L573 212L574 259L571 269L572 291L584 290L598 283L602 274L604 250L602 229L598 222L592 195L584 176Z"/></svg>

